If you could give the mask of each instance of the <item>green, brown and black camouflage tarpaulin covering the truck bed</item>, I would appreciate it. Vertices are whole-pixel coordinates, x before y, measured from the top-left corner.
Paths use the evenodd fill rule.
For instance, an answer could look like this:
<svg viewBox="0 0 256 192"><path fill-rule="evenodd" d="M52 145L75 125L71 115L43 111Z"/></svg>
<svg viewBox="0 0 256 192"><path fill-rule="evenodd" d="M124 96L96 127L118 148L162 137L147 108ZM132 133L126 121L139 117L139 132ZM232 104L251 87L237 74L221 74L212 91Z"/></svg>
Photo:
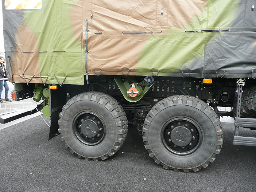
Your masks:
<svg viewBox="0 0 256 192"><path fill-rule="evenodd" d="M86 33L89 75L256 77L255 0L19 1L2 0L12 82L84 84Z"/></svg>

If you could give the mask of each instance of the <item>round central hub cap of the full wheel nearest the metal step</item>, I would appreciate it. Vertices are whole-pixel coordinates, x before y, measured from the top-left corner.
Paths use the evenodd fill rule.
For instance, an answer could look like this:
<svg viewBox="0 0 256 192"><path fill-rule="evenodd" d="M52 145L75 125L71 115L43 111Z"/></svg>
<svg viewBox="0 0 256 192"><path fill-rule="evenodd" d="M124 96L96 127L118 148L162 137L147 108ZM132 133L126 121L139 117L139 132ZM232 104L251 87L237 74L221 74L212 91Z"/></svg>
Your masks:
<svg viewBox="0 0 256 192"><path fill-rule="evenodd" d="M183 126L177 126L171 131L171 141L177 146L189 145L192 135L189 129Z"/></svg>

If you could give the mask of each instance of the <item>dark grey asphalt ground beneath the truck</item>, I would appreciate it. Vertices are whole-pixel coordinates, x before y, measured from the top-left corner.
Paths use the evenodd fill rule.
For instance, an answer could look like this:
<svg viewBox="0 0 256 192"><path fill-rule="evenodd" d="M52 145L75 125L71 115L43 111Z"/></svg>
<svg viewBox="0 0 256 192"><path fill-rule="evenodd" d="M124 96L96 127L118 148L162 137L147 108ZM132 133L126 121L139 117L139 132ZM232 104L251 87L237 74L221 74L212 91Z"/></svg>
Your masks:
<svg viewBox="0 0 256 192"><path fill-rule="evenodd" d="M256 191L256 148L232 145L233 123L222 126L216 160L183 173L157 165L132 126L114 156L95 162L71 154L60 136L47 141L49 127L37 116L0 130L0 191ZM240 133L256 137L256 131Z"/></svg>

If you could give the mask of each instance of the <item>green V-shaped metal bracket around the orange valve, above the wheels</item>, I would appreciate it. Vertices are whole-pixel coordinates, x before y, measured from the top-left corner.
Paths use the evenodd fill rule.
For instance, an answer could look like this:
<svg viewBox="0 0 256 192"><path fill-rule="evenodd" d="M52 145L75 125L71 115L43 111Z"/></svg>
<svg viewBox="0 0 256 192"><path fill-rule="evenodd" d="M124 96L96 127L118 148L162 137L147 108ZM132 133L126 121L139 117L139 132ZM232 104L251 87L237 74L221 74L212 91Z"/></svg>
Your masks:
<svg viewBox="0 0 256 192"><path fill-rule="evenodd" d="M130 89L130 83L128 81L125 81L123 83L122 79L119 78L119 77L115 77L114 78L115 81L116 81L116 84L117 86L119 87L121 93L123 94L124 98L129 101L129 102L137 102L139 101L141 98L143 98L143 96L148 92L148 90L150 90L150 88L155 84L155 82L151 83L150 85L148 85L146 82L145 82L145 89L143 90L143 92L138 96L138 97L128 97L127 96L127 90ZM135 83L136 81L132 80L133 83ZM141 83L139 83L141 85Z"/></svg>

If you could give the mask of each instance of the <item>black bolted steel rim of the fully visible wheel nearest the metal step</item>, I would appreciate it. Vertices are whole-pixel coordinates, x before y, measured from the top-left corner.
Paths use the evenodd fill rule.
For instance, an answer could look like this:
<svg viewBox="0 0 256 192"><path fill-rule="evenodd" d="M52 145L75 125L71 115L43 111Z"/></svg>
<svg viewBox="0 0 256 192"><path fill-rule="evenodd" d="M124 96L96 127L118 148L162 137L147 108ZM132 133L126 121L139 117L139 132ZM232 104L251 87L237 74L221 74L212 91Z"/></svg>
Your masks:
<svg viewBox="0 0 256 192"><path fill-rule="evenodd" d="M174 118L162 129L162 141L166 149L177 155L188 155L202 142L201 129L189 118Z"/></svg>

